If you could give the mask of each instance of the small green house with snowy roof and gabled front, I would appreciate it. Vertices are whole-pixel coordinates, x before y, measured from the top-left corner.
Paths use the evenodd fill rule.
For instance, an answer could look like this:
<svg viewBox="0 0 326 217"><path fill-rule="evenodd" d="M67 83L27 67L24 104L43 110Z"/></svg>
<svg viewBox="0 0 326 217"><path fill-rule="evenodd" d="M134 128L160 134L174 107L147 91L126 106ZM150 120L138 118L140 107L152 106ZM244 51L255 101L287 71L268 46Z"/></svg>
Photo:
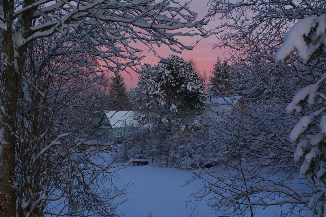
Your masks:
<svg viewBox="0 0 326 217"><path fill-rule="evenodd" d="M104 111L96 129L96 138L103 136L122 137L129 127L136 127L133 111Z"/></svg>

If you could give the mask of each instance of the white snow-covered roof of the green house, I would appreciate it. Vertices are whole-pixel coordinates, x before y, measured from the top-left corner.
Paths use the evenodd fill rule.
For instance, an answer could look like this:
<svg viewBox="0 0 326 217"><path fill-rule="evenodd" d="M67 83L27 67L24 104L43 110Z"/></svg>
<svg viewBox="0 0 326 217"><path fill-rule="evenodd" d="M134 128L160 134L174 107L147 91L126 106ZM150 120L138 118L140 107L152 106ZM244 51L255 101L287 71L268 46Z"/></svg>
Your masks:
<svg viewBox="0 0 326 217"><path fill-rule="evenodd" d="M135 126L133 111L104 111L112 128L126 128L127 126Z"/></svg>

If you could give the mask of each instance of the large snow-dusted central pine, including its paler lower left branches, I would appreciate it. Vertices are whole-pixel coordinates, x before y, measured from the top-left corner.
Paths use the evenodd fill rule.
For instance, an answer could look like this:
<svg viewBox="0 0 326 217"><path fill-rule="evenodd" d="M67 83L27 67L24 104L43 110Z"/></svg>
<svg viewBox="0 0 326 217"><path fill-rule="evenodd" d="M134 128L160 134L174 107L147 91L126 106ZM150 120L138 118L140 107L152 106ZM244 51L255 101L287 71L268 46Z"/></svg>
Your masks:
<svg viewBox="0 0 326 217"><path fill-rule="evenodd" d="M141 103L138 120L146 128L165 126L169 133L182 128L189 110L203 109L206 99L204 85L191 62L172 54L155 66L142 66L134 93Z"/></svg>

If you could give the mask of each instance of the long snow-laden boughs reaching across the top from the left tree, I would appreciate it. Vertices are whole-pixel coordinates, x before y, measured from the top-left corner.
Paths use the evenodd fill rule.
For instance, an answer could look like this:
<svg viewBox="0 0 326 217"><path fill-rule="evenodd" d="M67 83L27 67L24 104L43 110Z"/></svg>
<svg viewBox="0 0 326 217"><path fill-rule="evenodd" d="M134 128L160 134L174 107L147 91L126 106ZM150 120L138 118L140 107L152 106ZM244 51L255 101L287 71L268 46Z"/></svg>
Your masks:
<svg viewBox="0 0 326 217"><path fill-rule="evenodd" d="M21 8L22 7L22 8ZM33 9L34 19L45 20L29 28L28 37L16 34L17 47L55 32L66 35L82 26L92 26L93 31L103 33L103 36L115 40L126 38L140 41L162 42L168 45L179 45L180 49L191 49L178 42L174 36L208 34L202 27L208 22L209 15L204 19L196 20L197 14L184 5L174 1L37 1L30 5L17 7L14 18L20 18L26 10ZM212 12L213 13L213 12ZM170 14L170 16L169 16ZM5 25L0 25L0 28ZM136 27L136 28L132 28ZM17 27L16 27L17 28ZM196 31L178 31L177 29L193 29ZM3 29L3 28L1 28ZM141 31L145 30L145 32ZM86 33L97 41L92 32ZM141 36L142 35L142 36Z"/></svg>

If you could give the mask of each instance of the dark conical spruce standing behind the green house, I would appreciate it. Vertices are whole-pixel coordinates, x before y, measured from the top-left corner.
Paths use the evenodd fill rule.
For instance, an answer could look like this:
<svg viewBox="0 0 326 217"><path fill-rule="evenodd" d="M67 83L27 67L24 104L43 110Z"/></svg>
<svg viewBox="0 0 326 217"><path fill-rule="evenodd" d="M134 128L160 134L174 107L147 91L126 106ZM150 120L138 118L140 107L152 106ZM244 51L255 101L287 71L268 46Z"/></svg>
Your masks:
<svg viewBox="0 0 326 217"><path fill-rule="evenodd" d="M107 109L114 111L130 109L129 97L123 80L120 72L114 73L114 76L111 77Z"/></svg>

